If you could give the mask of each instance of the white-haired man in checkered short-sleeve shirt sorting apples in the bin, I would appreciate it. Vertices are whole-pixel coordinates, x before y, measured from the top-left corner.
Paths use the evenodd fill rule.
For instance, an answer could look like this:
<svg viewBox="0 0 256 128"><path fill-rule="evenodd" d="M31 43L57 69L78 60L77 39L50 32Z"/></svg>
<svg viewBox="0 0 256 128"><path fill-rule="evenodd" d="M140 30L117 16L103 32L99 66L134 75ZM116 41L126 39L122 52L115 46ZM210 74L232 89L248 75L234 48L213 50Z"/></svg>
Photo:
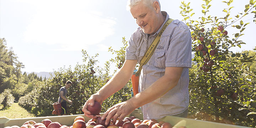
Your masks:
<svg viewBox="0 0 256 128"><path fill-rule="evenodd" d="M83 106L85 116L95 118L87 111L94 101L102 103L122 89L130 80L137 63L168 20L169 15L160 10L159 0L129 0L128 6L139 28L132 34L126 49L122 68L92 95ZM125 102L109 108L102 119L113 122L123 119L134 109L141 107L144 119L160 119L165 116L187 117L189 92L188 68L191 68L191 34L188 26L174 20L162 33L160 42L148 63L143 65L139 79L139 92Z"/></svg>

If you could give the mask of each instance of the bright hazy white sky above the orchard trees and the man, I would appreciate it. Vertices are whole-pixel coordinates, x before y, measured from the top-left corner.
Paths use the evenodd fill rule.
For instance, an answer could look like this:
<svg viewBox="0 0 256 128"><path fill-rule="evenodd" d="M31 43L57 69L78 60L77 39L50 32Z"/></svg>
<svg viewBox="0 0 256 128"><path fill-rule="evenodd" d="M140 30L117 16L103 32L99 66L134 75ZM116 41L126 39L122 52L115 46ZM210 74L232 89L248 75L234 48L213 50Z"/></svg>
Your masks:
<svg viewBox="0 0 256 128"><path fill-rule="evenodd" d="M202 17L203 0L160 0L161 10L170 18L182 20L181 2L191 2L195 14L193 20ZM223 17L228 6L223 0L213 0L209 15ZM18 60L25 65L21 71L51 72L76 64L82 64L84 49L90 56L98 53L97 65L104 67L114 58L108 48L123 47L122 37L128 41L138 28L134 18L126 9L126 0L0 0L0 38L5 38ZM245 9L249 0L234 0L230 17ZM244 36L239 39L246 44L232 48L233 52L252 50L256 46L254 15L242 18L247 25ZM234 25L239 24L239 22ZM225 28L228 36L238 30ZM115 70L111 65L111 73Z"/></svg>

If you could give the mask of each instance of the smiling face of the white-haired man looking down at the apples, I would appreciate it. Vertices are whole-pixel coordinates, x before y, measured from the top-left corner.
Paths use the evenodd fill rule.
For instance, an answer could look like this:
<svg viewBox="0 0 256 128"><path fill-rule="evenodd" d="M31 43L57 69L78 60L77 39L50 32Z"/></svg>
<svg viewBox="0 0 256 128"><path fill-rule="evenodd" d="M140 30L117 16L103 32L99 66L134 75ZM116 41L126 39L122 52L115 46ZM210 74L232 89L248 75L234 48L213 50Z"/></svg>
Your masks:
<svg viewBox="0 0 256 128"><path fill-rule="evenodd" d="M130 12L144 33L152 35L158 31L159 25L157 25L157 15L154 9L149 8L144 5L143 2L140 2L137 5L134 5L130 9Z"/></svg>

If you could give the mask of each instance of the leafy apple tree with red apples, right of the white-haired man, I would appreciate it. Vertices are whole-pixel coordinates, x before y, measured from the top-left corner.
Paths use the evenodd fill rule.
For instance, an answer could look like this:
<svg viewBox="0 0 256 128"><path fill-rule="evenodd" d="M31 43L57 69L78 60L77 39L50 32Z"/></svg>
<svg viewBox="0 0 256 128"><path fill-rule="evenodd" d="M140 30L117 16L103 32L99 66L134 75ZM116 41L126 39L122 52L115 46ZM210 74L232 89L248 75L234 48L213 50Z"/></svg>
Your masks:
<svg viewBox="0 0 256 128"><path fill-rule="evenodd" d="M255 71L247 63L255 62L255 55L233 53L230 48L241 47L240 41L246 28L242 18L256 14L256 1L250 0L245 10L230 17L233 0L223 1L227 8L225 17L210 16L210 1L203 0L202 17L193 20L195 14L190 3L182 2L180 14L191 29L193 66L190 69L189 116L214 122L241 126L256 126ZM256 15L253 17L256 23ZM227 27L238 32L229 33Z"/></svg>

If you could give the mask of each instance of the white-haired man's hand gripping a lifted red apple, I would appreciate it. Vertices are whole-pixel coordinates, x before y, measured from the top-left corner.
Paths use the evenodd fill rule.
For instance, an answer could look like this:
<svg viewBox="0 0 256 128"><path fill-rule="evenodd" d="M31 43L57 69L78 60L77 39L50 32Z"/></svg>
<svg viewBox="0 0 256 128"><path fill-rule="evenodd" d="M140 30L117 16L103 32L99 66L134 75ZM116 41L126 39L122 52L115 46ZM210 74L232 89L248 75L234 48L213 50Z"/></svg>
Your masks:
<svg viewBox="0 0 256 128"><path fill-rule="evenodd" d="M97 101L100 104L102 104L102 99L100 98L101 96L99 94L93 94L91 95L91 97L85 102L82 111L84 112L85 116L89 117L89 118L97 118L96 115L92 115L90 111L87 110L88 105L93 106L94 102Z"/></svg>

